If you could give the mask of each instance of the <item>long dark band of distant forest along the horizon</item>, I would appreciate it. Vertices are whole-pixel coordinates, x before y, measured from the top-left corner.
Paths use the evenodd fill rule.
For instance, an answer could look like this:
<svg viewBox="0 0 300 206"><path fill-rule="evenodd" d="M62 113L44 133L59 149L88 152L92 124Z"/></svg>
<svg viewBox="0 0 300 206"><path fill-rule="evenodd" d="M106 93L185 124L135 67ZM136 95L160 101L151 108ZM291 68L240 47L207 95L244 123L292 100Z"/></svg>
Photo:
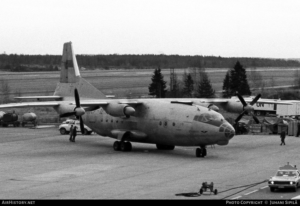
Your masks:
<svg viewBox="0 0 300 206"><path fill-rule="evenodd" d="M76 55L77 63L86 69L154 69L160 66L165 68L231 68L236 61L247 67L299 67L296 60L271 59L271 58L235 58L216 57L202 55ZM24 54L0 54L0 70L6 71L45 71L50 65L60 67L61 55L24 55ZM23 66L23 67L20 67ZM43 66L43 67L41 67ZM55 68L56 69L56 68ZM54 70L55 70L54 69Z"/></svg>

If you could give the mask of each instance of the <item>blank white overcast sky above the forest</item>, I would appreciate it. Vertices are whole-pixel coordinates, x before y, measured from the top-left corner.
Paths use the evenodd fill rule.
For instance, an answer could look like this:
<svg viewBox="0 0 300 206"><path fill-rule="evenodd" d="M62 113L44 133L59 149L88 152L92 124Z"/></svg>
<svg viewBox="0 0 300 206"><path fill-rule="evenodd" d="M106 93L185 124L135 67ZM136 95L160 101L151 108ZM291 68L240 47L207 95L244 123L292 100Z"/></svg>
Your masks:
<svg viewBox="0 0 300 206"><path fill-rule="evenodd" d="M0 53L300 58L299 0L0 0Z"/></svg>

